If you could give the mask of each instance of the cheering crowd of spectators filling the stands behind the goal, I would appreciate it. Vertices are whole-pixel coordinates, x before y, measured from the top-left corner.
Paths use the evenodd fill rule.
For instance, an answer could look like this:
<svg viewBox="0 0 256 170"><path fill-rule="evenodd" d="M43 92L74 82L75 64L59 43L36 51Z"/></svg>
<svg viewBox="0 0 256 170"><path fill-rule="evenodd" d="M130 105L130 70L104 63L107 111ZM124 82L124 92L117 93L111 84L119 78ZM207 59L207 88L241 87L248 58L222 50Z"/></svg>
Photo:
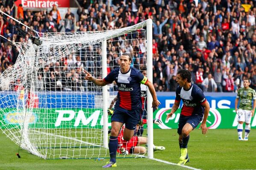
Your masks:
<svg viewBox="0 0 256 170"><path fill-rule="evenodd" d="M4 3L5 2L5 3ZM205 92L235 92L243 86L243 78L250 79L250 87L256 89L256 1L254 0L78 0L81 8L75 20L68 9L61 18L57 6L46 10L24 10L20 5L17 16L13 1L0 0L1 10L17 18L39 33L57 31L101 31L132 26L151 18L153 20L153 84L156 91L175 91L179 69L192 73L192 82ZM23 42L23 32L12 19L0 17L1 35L8 40ZM21 29L27 30L24 26ZM28 34L26 40L30 40ZM134 45L137 43L136 45ZM140 54L133 62L145 62L145 40L132 43ZM118 51L113 43L108 47L108 71L118 66ZM127 46L130 48L130 46ZM125 49L129 51L129 49ZM130 49L130 51L135 49ZM123 51L125 52L125 51ZM86 49L90 54L90 49ZM86 65L94 54L86 57ZM0 72L11 67L18 52L8 41L1 39ZM49 82L47 90L60 87L78 90L83 85L79 68L82 57L68 56L44 68L38 75ZM65 73L62 68L68 65ZM100 65L100 64L99 64ZM78 67L79 66L79 67ZM83 65L85 66L85 65ZM96 64L96 66L98 66ZM57 71L56 71L57 70ZM58 71L59 70L59 71ZM63 71L63 70L62 70ZM51 85L51 82L54 85ZM78 85L80 84L80 85ZM58 87L58 88L56 88Z"/></svg>

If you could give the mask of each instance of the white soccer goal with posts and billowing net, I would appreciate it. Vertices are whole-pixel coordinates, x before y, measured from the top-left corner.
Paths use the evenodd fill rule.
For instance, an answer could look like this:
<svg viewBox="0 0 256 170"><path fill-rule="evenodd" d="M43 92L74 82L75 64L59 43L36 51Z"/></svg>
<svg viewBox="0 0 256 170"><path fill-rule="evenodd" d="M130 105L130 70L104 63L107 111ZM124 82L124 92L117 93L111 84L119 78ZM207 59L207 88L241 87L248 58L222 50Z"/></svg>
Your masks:
<svg viewBox="0 0 256 170"><path fill-rule="evenodd" d="M1 130L43 159L109 157L107 109L117 93L115 84L96 86L84 79L83 70L105 77L129 52L132 66L147 70L152 82L152 20L108 31L41 33L39 39L41 45L12 44L19 56L0 75ZM133 157L153 158L150 95L147 102L147 154Z"/></svg>

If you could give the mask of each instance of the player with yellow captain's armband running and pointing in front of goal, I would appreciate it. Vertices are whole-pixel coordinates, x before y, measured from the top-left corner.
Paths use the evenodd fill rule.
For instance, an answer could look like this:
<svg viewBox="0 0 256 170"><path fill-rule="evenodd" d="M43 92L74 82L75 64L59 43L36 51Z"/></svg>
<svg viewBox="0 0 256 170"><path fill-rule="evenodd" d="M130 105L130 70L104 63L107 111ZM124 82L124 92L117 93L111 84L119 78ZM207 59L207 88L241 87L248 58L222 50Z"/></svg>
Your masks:
<svg viewBox="0 0 256 170"><path fill-rule="evenodd" d="M144 77L136 68L131 68L132 57L129 53L123 53L120 57L120 68L115 68L104 79L96 79L85 71L85 79L96 85L104 86L116 82L118 85L118 99L115 103L115 111L111 117L111 133L109 137L110 161L103 167L116 167L116 152L118 149L118 133L125 123L124 140L129 141L141 118L141 88L140 84L147 85L153 97L152 107L156 109L160 105L157 100L153 84Z"/></svg>

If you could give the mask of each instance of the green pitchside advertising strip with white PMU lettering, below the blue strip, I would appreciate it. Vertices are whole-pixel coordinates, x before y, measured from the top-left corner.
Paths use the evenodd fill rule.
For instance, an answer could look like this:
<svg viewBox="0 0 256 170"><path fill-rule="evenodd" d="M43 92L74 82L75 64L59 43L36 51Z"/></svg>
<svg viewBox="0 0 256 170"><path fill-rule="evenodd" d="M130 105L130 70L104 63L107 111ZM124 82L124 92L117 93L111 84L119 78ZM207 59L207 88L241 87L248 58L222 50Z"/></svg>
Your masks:
<svg viewBox="0 0 256 170"><path fill-rule="evenodd" d="M160 119L162 125L154 125L154 128L177 129L181 109L178 109L173 116L166 120L171 109L160 108L153 113L154 119ZM0 127L12 128L23 125L24 117L31 128L97 128L103 125L101 109L42 109L34 108L30 111L0 109ZM238 115L234 109L210 109L207 119L209 129L236 128ZM109 117L109 126L110 117ZM252 128L256 128L256 116L253 116Z"/></svg>

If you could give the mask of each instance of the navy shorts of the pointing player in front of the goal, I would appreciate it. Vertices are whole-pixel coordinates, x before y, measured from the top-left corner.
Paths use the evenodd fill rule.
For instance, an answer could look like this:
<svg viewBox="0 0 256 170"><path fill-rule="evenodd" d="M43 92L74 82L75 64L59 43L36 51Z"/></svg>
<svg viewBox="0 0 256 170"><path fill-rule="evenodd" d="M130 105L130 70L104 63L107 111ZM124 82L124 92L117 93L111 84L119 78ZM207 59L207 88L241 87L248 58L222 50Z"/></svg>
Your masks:
<svg viewBox="0 0 256 170"><path fill-rule="evenodd" d="M111 116L111 122L125 123L125 127L129 130L135 130L141 119L141 108L128 111L124 108L115 108Z"/></svg>

